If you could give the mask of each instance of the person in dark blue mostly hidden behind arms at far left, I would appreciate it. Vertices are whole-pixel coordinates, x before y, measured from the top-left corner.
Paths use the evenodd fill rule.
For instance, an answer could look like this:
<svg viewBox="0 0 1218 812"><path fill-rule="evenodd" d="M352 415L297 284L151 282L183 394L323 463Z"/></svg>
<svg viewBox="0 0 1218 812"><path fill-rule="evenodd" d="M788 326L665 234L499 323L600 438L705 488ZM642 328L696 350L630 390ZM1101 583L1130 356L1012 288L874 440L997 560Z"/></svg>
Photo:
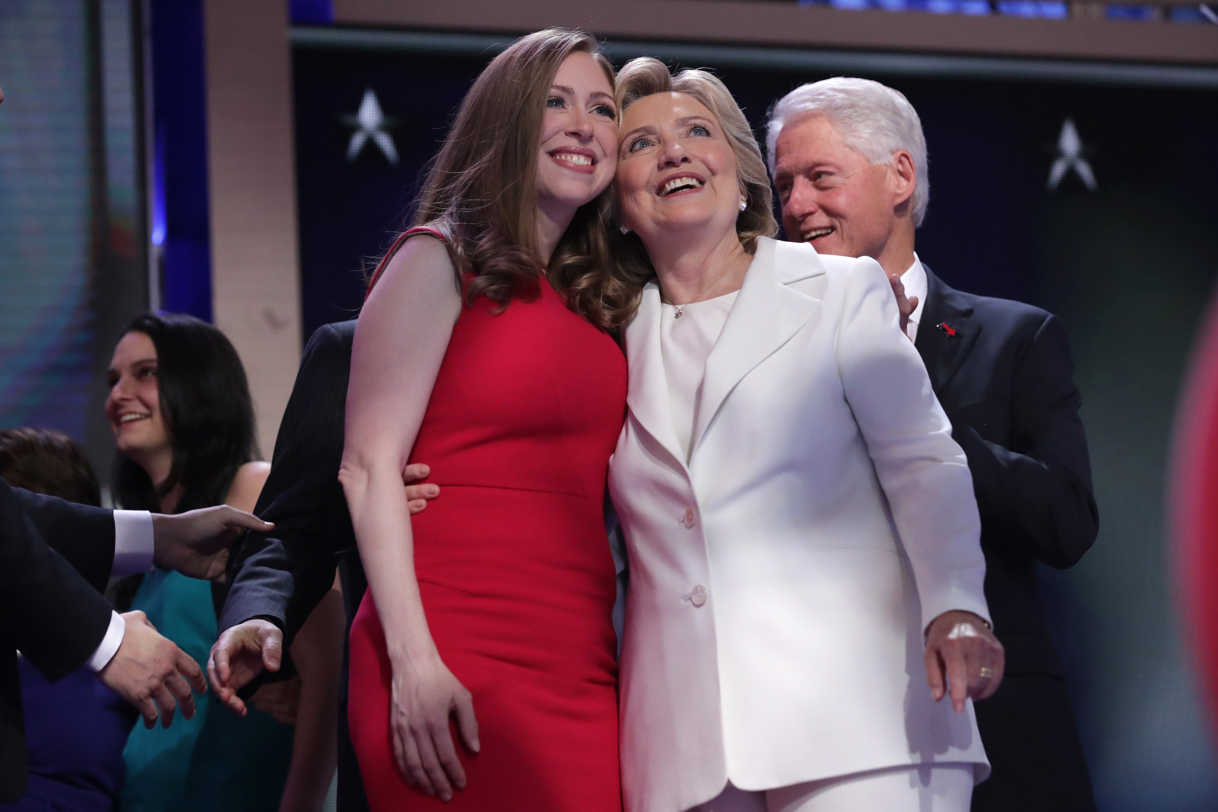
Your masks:
<svg viewBox="0 0 1218 812"><path fill-rule="evenodd" d="M101 506L97 476L74 439L46 429L0 431L0 476L15 488ZM9 577L19 577L9 573ZM88 666L49 682L18 657L29 788L5 812L112 812L123 785L123 746L138 713ZM189 724L179 719L178 724Z"/></svg>

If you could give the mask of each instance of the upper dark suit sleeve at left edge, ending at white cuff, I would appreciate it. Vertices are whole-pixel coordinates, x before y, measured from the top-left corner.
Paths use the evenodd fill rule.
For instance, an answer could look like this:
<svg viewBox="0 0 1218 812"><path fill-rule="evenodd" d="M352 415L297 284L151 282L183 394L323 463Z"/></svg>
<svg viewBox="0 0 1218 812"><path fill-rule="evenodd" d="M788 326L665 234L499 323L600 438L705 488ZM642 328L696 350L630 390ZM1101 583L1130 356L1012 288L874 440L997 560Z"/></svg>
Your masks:
<svg viewBox="0 0 1218 812"><path fill-rule="evenodd" d="M114 564L114 511L11 488L39 536L97 592Z"/></svg>

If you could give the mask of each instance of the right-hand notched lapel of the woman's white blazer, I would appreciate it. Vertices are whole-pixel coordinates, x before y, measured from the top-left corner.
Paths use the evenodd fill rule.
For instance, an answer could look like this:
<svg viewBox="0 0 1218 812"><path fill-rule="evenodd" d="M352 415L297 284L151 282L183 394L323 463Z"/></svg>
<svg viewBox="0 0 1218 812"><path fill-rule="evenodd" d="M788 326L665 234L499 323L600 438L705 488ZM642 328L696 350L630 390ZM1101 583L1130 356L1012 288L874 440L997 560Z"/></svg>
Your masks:
<svg viewBox="0 0 1218 812"><path fill-rule="evenodd" d="M811 246L758 237L758 250L744 276L744 285L727 315L719 341L706 358L706 371L694 415L691 461L706 429L741 379L787 343L821 306L820 299L792 290L786 282L823 273L825 268ZM633 380L631 387L633 388Z"/></svg>

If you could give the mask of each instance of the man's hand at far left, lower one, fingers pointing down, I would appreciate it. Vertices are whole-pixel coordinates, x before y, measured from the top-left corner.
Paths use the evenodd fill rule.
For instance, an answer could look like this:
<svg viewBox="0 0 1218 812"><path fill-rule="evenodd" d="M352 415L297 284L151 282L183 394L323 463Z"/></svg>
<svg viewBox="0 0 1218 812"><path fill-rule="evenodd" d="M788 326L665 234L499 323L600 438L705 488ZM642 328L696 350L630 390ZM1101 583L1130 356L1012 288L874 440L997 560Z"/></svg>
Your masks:
<svg viewBox="0 0 1218 812"><path fill-rule="evenodd" d="M191 718L195 715L191 687L200 694L207 690L199 663L161 637L144 612L125 612L123 621L127 625L123 642L97 678L134 705L150 729L156 727L157 706L163 727L169 727L179 706L181 715Z"/></svg>

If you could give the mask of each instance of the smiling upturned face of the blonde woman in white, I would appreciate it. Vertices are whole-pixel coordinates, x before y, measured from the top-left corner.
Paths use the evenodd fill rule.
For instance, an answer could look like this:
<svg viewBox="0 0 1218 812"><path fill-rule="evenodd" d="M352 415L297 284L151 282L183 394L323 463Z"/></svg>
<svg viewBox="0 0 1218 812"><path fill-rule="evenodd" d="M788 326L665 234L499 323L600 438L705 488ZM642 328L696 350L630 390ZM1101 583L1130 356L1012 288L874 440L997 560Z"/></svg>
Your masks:
<svg viewBox="0 0 1218 812"><path fill-rule="evenodd" d="M736 230L741 181L719 119L693 96L658 93L626 108L618 150L622 225L644 243L672 231Z"/></svg>

